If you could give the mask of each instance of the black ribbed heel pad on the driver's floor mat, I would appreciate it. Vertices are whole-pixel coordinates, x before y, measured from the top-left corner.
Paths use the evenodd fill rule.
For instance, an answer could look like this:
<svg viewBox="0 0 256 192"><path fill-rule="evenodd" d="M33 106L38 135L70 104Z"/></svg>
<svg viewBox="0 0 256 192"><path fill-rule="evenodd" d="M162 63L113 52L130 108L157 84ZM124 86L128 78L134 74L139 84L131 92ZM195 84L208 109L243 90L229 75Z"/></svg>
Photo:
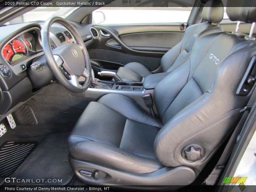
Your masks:
<svg viewBox="0 0 256 192"><path fill-rule="evenodd" d="M35 148L37 142L6 141L0 147L0 176L11 175Z"/></svg>

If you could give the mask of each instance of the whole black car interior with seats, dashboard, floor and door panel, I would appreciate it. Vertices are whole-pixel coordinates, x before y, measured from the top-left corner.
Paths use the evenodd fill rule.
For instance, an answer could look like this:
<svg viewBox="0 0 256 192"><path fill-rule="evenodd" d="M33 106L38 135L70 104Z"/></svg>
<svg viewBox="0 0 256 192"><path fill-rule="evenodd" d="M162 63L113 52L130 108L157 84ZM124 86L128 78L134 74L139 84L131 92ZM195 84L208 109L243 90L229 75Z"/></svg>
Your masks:
<svg viewBox="0 0 256 192"><path fill-rule="evenodd" d="M256 1L223 3L196 0L187 23L92 23L99 7L80 7L2 25L1 185L201 185L256 79Z"/></svg>

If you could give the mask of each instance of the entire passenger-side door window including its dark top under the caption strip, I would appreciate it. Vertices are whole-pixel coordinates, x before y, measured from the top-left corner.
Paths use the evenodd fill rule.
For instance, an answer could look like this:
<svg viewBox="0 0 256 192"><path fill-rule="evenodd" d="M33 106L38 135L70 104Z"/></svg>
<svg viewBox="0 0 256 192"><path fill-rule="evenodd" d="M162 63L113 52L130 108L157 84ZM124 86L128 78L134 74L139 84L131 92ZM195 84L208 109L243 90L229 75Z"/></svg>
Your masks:
<svg viewBox="0 0 256 192"><path fill-rule="evenodd" d="M187 22L193 0L186 3L174 0L123 0L92 12L92 23L136 24Z"/></svg>

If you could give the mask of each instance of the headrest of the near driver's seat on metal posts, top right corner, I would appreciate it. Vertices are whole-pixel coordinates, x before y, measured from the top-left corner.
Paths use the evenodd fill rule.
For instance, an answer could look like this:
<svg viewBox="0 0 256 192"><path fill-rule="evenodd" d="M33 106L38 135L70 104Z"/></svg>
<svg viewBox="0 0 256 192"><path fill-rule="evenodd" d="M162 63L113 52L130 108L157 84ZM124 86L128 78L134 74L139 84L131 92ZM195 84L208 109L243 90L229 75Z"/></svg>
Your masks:
<svg viewBox="0 0 256 192"><path fill-rule="evenodd" d="M256 21L256 0L228 0L227 14L231 21Z"/></svg>

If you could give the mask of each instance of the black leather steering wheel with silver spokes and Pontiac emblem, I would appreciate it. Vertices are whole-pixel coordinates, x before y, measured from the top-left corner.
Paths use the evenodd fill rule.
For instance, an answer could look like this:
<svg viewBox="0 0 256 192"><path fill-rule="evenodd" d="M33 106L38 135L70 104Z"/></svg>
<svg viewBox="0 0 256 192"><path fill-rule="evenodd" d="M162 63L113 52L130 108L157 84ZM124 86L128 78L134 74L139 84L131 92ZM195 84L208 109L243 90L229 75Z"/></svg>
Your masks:
<svg viewBox="0 0 256 192"><path fill-rule="evenodd" d="M77 44L61 45L52 51L50 28L53 23L59 23L67 28ZM67 20L54 16L44 22L41 33L44 55L53 75L69 91L74 93L85 92L91 83L92 68L84 42L76 29ZM83 85L78 82L79 76L85 77Z"/></svg>

